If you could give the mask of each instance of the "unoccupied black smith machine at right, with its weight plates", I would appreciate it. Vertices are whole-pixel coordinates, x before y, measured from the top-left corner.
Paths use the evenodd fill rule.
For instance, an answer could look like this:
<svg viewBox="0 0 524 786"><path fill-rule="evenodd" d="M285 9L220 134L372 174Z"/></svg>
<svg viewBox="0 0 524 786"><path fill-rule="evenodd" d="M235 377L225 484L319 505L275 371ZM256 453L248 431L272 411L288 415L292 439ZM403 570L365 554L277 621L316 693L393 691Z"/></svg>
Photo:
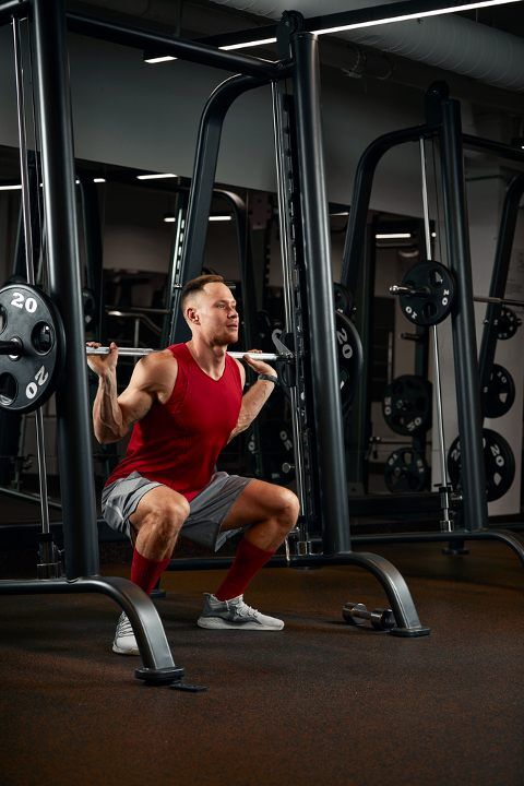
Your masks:
<svg viewBox="0 0 524 786"><path fill-rule="evenodd" d="M428 140L438 142L440 150L449 267L432 260L431 257L425 156L425 142ZM475 296L469 257L463 145L520 163L524 162L524 154L509 145L463 134L458 102L450 98L444 84L432 85L427 94L427 122L379 136L368 146L358 164L342 267L342 283L352 291L356 291L359 286L364 264L362 249L366 242L367 214L376 168L384 153L407 142L415 142L420 146L426 260L408 271L400 285L393 284L390 291L400 297L401 308L412 323L431 331L439 465L442 479L438 495L406 493L396 498L388 497L388 505L390 511L393 508L397 512L407 509L413 511L415 507L420 513L440 510L441 528L440 532L358 535L354 539L358 543L443 540L449 541L450 551L455 553L463 549L465 540L497 539L512 548L524 562L522 540L511 532L488 527L487 503L491 499L498 499L511 486L514 463L512 465L511 449L505 440L489 429L483 431L483 419L487 413L486 400L480 395L481 390L489 388L496 368L493 359L497 327L504 317L503 309L508 303L524 305L504 299L519 203L524 192L524 176L515 177L507 192L489 295ZM366 302L370 297L372 293L368 291L362 300ZM477 361L473 310L475 300L488 303L479 361ZM450 313L460 444L458 441L453 443L446 461L437 324ZM352 413L352 418L357 419L360 425L368 419L366 406L366 402L360 398ZM406 403L404 407L402 403L396 403L394 406L400 406L398 412L404 409L407 419L410 417ZM361 441L365 440L366 437L361 437ZM364 446L360 445L360 455L362 450ZM361 466L354 465L349 469L354 480L361 479ZM455 483L454 488L449 483L450 476ZM359 512L364 512L367 500L362 500L361 504L356 500L355 504ZM372 500L370 507L373 507ZM380 511L379 505L374 505L372 512L385 511Z"/></svg>

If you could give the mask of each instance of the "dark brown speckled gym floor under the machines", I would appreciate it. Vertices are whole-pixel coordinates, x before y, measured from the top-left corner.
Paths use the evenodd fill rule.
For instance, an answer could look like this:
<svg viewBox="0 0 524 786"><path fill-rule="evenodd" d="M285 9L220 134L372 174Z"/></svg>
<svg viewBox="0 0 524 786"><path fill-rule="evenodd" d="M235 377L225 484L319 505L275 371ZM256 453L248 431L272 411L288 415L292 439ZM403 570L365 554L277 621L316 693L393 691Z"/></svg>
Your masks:
<svg viewBox="0 0 524 786"><path fill-rule="evenodd" d="M385 605L358 568L262 571L247 599L282 615L282 633L199 629L222 573L167 573L157 607L203 693L139 683L139 659L110 651L108 598L0 596L0 783L522 786L523 567L491 541L376 550L430 636L346 626L347 600Z"/></svg>

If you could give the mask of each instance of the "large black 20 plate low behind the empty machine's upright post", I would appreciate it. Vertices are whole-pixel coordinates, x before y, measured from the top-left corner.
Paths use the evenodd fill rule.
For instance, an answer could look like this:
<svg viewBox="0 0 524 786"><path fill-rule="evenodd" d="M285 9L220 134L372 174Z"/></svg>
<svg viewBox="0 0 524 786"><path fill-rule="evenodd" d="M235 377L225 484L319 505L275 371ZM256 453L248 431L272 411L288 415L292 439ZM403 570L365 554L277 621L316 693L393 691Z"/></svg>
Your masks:
<svg viewBox="0 0 524 786"><path fill-rule="evenodd" d="M483 429L484 462L486 466L486 497L488 502L503 497L515 477L513 451L503 437L491 429ZM448 452L448 472L455 488L461 488L461 443L458 437Z"/></svg>

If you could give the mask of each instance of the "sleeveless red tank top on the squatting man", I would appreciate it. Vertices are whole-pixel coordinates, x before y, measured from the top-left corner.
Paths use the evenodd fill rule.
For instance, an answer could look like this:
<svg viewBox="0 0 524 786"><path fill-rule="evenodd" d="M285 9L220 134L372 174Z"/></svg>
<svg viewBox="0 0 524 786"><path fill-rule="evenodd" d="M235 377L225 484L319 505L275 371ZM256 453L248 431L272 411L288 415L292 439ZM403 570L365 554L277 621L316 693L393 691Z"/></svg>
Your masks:
<svg viewBox="0 0 524 786"><path fill-rule="evenodd" d="M168 347L178 361L169 400L155 400L133 427L124 458L107 484L138 472L169 486L188 501L202 491L237 425L242 383L236 360L226 355L219 380L202 371L186 344Z"/></svg>

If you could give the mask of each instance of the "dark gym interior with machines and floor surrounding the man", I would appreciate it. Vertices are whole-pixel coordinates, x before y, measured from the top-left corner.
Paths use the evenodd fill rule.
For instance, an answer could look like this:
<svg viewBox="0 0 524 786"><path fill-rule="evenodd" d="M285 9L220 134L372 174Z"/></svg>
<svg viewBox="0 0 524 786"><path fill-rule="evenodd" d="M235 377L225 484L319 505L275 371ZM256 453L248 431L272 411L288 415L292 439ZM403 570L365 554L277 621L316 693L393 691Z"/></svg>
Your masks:
<svg viewBox="0 0 524 786"><path fill-rule="evenodd" d="M522 786L524 2L0 0L0 41L2 786ZM123 391L201 273L278 377L217 469L300 503L279 632L196 626L238 536L150 598L100 508L85 343Z"/></svg>

